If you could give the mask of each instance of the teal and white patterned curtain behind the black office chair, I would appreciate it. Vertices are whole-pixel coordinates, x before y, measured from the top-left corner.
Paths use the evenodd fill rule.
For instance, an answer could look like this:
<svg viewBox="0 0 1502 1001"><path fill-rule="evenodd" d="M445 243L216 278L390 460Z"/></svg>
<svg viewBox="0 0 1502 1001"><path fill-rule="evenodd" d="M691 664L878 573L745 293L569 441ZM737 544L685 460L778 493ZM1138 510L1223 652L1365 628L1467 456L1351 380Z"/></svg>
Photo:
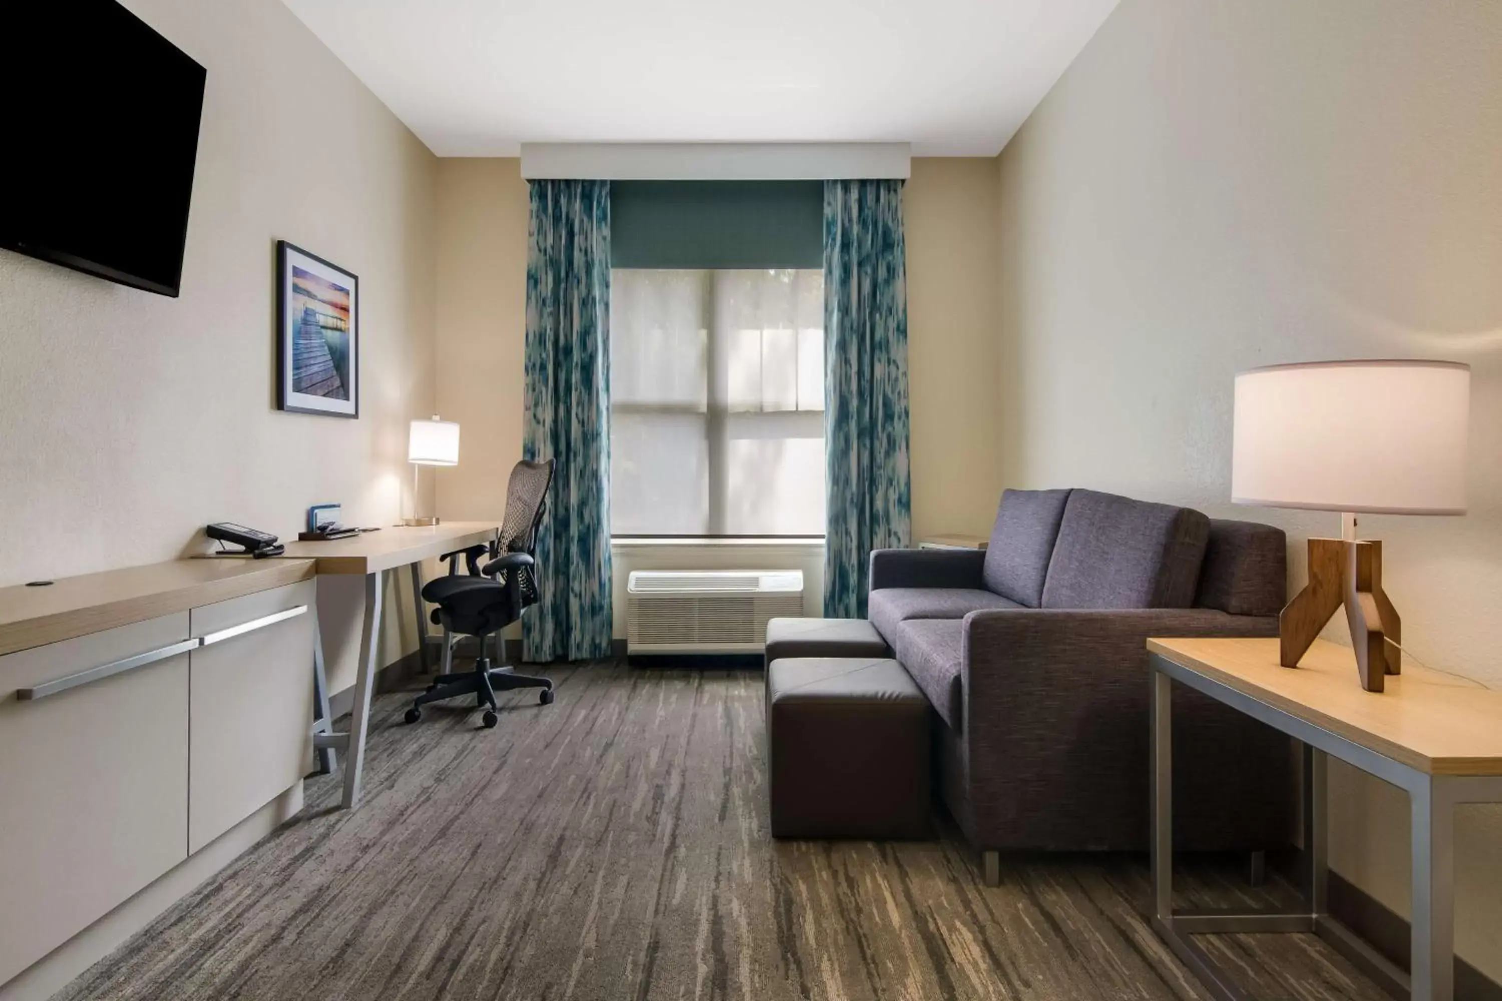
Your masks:
<svg viewBox="0 0 1502 1001"><path fill-rule="evenodd" d="M557 459L527 660L610 654L610 182L532 182L527 459Z"/></svg>

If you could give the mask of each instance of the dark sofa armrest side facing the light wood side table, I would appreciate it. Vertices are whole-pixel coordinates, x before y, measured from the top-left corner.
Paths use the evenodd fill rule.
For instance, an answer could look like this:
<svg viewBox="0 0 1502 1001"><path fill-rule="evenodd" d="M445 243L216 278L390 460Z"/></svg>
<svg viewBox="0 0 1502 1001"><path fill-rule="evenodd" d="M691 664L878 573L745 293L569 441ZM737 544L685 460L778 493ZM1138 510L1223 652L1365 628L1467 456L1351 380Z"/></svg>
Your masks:
<svg viewBox="0 0 1502 1001"><path fill-rule="evenodd" d="M1148 638L1277 632L1277 617L1208 608L966 615L958 740L976 836L996 846L1146 843ZM1185 842L1283 843L1292 824L1289 741L1199 692L1176 689L1184 803L1203 807L1236 791L1244 807L1187 819ZM1221 792L1211 788L1217 782ZM1035 809L1039 801L1048 809Z"/></svg>

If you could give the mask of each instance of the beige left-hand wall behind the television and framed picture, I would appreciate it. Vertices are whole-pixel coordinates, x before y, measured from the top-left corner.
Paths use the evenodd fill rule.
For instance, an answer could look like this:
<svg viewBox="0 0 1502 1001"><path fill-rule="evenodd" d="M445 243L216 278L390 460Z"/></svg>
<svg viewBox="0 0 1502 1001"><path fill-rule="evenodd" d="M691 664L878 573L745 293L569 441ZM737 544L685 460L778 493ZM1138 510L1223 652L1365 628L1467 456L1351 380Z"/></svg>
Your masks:
<svg viewBox="0 0 1502 1001"><path fill-rule="evenodd" d="M437 158L278 0L126 6L209 71L182 297L0 251L0 585L171 560L210 521L293 536L320 501L391 524L433 405ZM359 420L275 410L278 239L360 276Z"/></svg>

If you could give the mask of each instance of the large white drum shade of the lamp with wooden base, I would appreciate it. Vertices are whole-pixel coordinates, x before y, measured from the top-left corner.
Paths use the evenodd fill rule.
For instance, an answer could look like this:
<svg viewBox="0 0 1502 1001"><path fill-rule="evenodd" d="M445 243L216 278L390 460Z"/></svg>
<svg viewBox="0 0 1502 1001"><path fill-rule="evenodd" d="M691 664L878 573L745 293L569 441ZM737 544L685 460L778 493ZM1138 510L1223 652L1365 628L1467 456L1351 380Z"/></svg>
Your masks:
<svg viewBox="0 0 1502 1001"><path fill-rule="evenodd" d="M1314 362L1236 377L1238 504L1466 512L1470 366Z"/></svg>

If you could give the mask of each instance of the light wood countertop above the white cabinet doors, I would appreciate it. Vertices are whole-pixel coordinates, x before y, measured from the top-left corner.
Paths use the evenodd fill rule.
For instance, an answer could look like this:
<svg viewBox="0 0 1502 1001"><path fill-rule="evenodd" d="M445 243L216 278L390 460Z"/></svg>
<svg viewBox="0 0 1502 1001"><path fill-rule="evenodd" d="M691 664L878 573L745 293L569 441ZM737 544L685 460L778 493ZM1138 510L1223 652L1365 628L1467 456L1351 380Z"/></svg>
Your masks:
<svg viewBox="0 0 1502 1001"><path fill-rule="evenodd" d="M173 560L0 588L0 654L312 578L312 560Z"/></svg>

